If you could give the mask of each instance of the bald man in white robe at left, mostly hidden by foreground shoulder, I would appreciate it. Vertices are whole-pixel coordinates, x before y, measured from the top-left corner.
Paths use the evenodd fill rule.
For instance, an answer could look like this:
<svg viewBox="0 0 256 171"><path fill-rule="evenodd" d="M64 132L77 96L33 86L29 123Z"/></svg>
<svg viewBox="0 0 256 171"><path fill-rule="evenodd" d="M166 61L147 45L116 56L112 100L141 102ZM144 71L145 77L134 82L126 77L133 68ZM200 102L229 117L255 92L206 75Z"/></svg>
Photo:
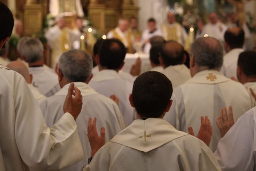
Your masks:
<svg viewBox="0 0 256 171"><path fill-rule="evenodd" d="M46 97L42 95L36 87L34 87L31 83L33 80L33 75L29 74L28 68L25 66L25 64L21 61L12 61L7 66L7 68L18 72L20 75L23 76L26 83L28 84L28 87L30 88L32 94L34 95L36 101L38 104L40 104Z"/></svg>

